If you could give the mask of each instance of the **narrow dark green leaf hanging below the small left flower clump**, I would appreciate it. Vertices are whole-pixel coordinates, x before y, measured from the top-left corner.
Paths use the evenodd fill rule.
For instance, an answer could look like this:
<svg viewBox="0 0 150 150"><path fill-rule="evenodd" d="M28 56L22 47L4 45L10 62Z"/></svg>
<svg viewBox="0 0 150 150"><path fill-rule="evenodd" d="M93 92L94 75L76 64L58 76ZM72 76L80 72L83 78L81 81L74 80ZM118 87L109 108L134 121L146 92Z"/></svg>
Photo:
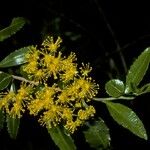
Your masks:
<svg viewBox="0 0 150 150"><path fill-rule="evenodd" d="M7 115L7 130L12 139L16 139L20 125L20 118L13 118Z"/></svg>

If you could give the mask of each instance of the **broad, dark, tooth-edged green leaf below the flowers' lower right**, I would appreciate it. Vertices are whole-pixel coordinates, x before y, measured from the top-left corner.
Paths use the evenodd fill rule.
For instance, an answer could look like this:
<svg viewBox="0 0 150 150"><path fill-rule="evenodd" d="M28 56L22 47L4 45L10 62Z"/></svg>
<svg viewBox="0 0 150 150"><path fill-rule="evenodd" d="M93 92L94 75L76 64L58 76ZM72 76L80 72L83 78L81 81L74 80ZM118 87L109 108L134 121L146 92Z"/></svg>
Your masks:
<svg viewBox="0 0 150 150"><path fill-rule="evenodd" d="M93 124L87 124L88 129L83 131L86 142L94 149L107 149L110 147L109 129L105 122L99 118Z"/></svg>

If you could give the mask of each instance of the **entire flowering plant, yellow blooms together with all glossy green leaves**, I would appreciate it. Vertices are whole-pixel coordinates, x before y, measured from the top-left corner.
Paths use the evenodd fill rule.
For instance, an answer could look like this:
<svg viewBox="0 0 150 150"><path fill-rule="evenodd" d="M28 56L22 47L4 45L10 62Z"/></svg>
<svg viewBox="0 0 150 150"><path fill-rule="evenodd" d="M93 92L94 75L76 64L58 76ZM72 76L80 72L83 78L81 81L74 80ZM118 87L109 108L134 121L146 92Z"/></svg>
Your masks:
<svg viewBox="0 0 150 150"><path fill-rule="evenodd" d="M16 33L25 24L15 18L0 31L1 41ZM75 53L64 56L62 39L48 36L41 45L20 48L0 62L0 68L19 66L19 75L0 71L0 129L6 121L10 137L17 138L20 118L29 111L47 128L52 140L61 150L77 149L73 140L78 128L85 127L85 142L94 149L109 149L111 137L105 121L96 117L93 101L106 104L110 116L133 134L147 140L144 124L129 107L114 100L133 100L150 92L150 83L141 85L149 66L150 48L134 61L126 81L112 79L105 85L108 98L96 98L99 86L89 76L89 64L78 67ZM16 80L20 85L16 86ZM95 117L94 117L95 116Z"/></svg>

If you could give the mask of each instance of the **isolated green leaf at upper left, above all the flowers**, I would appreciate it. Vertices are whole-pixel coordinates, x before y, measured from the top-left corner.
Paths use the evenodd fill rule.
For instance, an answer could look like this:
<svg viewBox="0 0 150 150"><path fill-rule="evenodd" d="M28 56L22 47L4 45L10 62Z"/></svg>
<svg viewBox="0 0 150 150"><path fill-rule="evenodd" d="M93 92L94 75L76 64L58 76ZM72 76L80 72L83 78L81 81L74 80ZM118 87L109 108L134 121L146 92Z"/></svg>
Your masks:
<svg viewBox="0 0 150 150"><path fill-rule="evenodd" d="M8 27L0 31L0 41L2 42L9 38L11 35L15 34L24 26L25 23L26 21L22 17L14 18Z"/></svg>

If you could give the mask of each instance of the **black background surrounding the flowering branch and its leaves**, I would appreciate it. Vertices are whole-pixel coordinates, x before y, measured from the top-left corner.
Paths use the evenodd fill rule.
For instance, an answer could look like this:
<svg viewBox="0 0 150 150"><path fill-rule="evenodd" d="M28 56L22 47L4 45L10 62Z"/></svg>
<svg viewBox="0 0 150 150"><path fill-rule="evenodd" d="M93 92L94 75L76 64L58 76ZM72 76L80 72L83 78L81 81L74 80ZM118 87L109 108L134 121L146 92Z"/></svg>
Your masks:
<svg viewBox="0 0 150 150"><path fill-rule="evenodd" d="M130 0L26 0L1 1L0 28L10 24L14 17L25 17L28 24L16 35L0 43L0 58L17 48L40 44L50 34L61 36L65 53L74 51L78 63L90 62L92 77L100 85L98 96L106 96L104 85L111 78L125 80L127 69L134 59L150 46L150 11L148 1ZM125 65L124 65L125 64ZM147 76L146 81L149 82ZM128 102L150 134L149 94ZM120 127L109 116L104 105L96 103L98 114L106 121L114 150L150 149L144 141ZM17 140L11 140L5 131L0 133L0 149L57 149L47 131L33 118L22 119ZM77 134L77 136L82 135ZM79 149L84 142L75 136ZM85 145L86 146L86 145ZM88 149L88 146L87 146Z"/></svg>

